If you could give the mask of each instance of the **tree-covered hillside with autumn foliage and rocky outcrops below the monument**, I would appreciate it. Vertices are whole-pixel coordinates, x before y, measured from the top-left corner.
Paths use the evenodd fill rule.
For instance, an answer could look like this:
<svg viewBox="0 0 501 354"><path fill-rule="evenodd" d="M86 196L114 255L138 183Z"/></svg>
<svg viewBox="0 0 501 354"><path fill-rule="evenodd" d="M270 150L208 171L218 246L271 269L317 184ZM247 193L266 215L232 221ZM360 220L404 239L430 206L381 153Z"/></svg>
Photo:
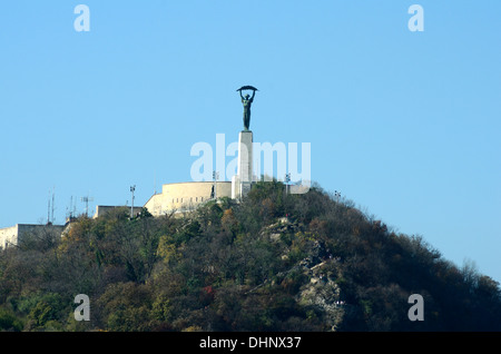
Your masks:
<svg viewBox="0 0 501 354"><path fill-rule="evenodd" d="M501 331L501 289L318 186L78 218L0 253L3 331ZM73 317L90 298L90 321ZM411 294L424 321L411 322Z"/></svg>

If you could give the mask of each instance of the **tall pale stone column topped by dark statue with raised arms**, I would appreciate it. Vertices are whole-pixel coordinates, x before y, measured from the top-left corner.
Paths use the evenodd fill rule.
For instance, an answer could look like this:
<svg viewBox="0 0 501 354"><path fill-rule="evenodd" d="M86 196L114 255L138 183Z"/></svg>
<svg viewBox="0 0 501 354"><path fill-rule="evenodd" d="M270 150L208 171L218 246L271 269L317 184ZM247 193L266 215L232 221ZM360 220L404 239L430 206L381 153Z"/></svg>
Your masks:
<svg viewBox="0 0 501 354"><path fill-rule="evenodd" d="M243 96L242 90L253 90L253 96ZM253 132L248 127L250 125L250 105L257 89L252 86L243 86L237 91L240 92L244 105L244 130L238 134L237 175L232 178L232 198L234 199L246 196L253 183Z"/></svg>

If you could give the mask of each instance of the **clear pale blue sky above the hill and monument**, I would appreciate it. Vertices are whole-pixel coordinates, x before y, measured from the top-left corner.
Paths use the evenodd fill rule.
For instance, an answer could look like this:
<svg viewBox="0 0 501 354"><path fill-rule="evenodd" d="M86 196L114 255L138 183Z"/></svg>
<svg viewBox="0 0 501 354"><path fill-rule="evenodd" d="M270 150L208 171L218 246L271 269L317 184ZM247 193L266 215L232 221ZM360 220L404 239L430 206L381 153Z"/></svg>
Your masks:
<svg viewBox="0 0 501 354"><path fill-rule="evenodd" d="M90 31L77 32L77 4ZM411 32L411 4L424 31ZM197 141L312 144L312 179L501 282L501 1L3 1L0 227L144 204Z"/></svg>

